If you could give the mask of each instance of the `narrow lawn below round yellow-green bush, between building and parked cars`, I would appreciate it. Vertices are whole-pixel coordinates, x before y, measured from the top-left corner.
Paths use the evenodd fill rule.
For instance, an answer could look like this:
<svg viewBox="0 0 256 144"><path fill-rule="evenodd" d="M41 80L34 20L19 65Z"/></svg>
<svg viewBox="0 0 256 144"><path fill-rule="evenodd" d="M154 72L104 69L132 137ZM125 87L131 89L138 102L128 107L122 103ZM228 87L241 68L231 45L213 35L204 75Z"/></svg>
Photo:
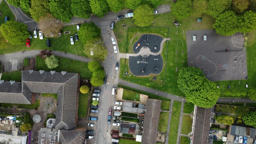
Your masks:
<svg viewBox="0 0 256 144"><path fill-rule="evenodd" d="M88 101L89 101L89 93L82 94L79 92L79 100L78 100L78 117L86 118L87 117L87 109L88 109Z"/></svg>

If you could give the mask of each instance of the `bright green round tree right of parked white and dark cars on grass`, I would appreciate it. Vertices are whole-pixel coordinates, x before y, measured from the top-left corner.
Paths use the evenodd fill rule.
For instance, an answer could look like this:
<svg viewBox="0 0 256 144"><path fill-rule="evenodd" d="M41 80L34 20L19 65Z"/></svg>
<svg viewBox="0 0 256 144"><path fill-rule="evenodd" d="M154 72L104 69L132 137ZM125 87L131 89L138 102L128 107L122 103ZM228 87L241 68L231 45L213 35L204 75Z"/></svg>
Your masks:
<svg viewBox="0 0 256 144"><path fill-rule="evenodd" d="M79 31L77 32L79 39L86 44L86 42L91 41L96 38L101 38L101 29L98 28L93 22L84 23L81 25Z"/></svg>

